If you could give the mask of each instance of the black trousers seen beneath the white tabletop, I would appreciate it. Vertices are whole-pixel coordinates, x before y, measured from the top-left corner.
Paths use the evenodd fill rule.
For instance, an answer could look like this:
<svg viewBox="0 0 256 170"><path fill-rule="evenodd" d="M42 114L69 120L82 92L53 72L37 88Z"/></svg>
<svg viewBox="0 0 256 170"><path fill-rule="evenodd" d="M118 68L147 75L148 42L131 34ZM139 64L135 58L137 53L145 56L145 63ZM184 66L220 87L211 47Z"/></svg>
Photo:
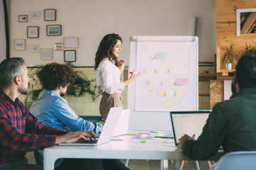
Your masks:
<svg viewBox="0 0 256 170"><path fill-rule="evenodd" d="M119 159L64 159L55 170L129 170Z"/></svg>

